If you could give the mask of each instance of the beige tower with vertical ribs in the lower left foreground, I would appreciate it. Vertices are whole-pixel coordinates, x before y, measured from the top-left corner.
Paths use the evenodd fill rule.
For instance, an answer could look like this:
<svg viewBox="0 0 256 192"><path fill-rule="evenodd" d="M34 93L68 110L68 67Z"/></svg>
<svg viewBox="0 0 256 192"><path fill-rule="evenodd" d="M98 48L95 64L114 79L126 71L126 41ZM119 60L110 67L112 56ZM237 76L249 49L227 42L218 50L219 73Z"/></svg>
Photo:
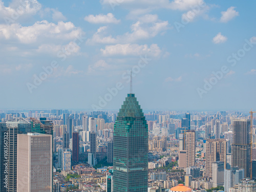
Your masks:
<svg viewBox="0 0 256 192"><path fill-rule="evenodd" d="M17 136L17 191L52 191L52 135Z"/></svg>

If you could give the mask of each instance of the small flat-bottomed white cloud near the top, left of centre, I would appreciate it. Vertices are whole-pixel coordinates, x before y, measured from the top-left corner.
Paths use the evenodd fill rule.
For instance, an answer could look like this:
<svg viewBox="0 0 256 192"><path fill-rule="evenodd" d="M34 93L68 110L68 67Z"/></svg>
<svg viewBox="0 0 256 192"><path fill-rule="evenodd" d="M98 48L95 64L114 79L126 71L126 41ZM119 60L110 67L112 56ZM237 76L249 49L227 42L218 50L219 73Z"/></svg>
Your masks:
<svg viewBox="0 0 256 192"><path fill-rule="evenodd" d="M108 13L106 15L99 14L99 15L88 15L84 17L84 20L86 20L89 23L93 24L118 24L120 23L120 20L117 20L115 16L112 13Z"/></svg>

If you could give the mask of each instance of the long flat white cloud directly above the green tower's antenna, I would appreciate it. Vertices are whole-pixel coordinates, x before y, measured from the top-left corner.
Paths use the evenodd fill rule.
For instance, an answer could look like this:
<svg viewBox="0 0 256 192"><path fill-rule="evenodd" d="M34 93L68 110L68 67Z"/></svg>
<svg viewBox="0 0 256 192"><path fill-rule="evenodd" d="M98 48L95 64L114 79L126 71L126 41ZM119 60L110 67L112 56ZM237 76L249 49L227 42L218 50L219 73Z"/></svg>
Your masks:
<svg viewBox="0 0 256 192"><path fill-rule="evenodd" d="M100 50L103 56L112 55L144 55L148 54L157 57L162 52L156 44L152 44L150 47L147 45L138 44L117 44L113 46L105 46L105 49Z"/></svg>

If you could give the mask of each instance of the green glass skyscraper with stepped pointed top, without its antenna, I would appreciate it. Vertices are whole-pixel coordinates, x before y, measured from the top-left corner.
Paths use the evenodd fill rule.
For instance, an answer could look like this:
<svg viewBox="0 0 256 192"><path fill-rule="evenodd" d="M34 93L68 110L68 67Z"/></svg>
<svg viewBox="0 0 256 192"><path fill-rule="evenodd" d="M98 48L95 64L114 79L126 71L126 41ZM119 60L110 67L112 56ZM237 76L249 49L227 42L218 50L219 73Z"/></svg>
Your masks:
<svg viewBox="0 0 256 192"><path fill-rule="evenodd" d="M135 94L128 94L114 125L114 192L146 192L148 130Z"/></svg>

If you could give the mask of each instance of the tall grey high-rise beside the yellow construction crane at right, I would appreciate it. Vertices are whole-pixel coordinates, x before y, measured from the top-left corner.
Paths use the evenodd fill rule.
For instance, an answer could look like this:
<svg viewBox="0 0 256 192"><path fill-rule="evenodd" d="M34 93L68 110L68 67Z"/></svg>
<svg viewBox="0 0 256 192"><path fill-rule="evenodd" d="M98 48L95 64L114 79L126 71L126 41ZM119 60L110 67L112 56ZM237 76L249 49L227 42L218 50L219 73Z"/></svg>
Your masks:
<svg viewBox="0 0 256 192"><path fill-rule="evenodd" d="M231 165L244 168L244 176L250 177L250 120L234 119L231 144Z"/></svg>

